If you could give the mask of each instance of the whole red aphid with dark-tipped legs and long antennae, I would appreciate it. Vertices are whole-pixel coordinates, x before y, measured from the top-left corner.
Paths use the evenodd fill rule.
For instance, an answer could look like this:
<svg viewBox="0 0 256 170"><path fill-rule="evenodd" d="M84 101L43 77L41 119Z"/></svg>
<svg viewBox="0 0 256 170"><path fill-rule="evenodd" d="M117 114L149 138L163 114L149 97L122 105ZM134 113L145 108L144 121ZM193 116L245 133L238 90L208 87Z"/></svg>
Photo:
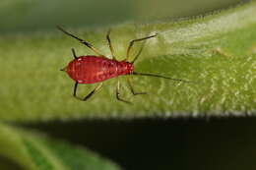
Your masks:
<svg viewBox="0 0 256 170"><path fill-rule="evenodd" d="M96 55L86 55L86 56L77 56L74 48L72 48L72 53L74 56L74 60L72 60L64 69L61 69L61 71L65 71L71 79L75 81L74 85L74 92L73 96L82 100L86 101L89 99L93 94L96 93L96 91L102 86L102 82L105 80L111 79L111 78L116 78L119 76L130 76L130 75L136 75L136 76L148 76L148 77L157 77L157 78L162 78L162 79L167 79L167 80L172 80L172 81L178 81L178 82L185 82L187 81L180 80L180 79L172 79L160 75L155 75L155 74L148 74L148 73L138 73L134 72L134 62L138 59L140 56L143 46L138 52L138 54L135 56L132 62L129 62L129 57L130 57L130 51L132 46L134 45L135 42L143 41L152 37L156 37L157 33L151 36L146 36L143 38L139 39L134 39L131 40L129 43L129 46L127 48L126 52L126 58L124 60L118 61L116 60L114 56L114 49L111 44L110 40L110 30L106 34L106 39L108 46L111 51L112 59L106 58L104 55L100 54L98 50L89 42L87 42L84 39L81 39L74 34L71 34L70 32L64 30L63 28L57 27L61 31L63 31L65 34L79 40L81 43L84 45L88 46L91 50L93 50ZM84 98L80 98L77 96L77 87L79 84L96 84L96 87L94 90L92 90L88 95L86 95ZM136 92L131 85L130 77L127 77L127 83L129 85L129 88L131 92L134 95L137 94L146 94L146 92ZM120 97L120 82L118 80L117 86L116 86L116 98L120 101L126 102L126 103L131 103L127 100L124 100Z"/></svg>

